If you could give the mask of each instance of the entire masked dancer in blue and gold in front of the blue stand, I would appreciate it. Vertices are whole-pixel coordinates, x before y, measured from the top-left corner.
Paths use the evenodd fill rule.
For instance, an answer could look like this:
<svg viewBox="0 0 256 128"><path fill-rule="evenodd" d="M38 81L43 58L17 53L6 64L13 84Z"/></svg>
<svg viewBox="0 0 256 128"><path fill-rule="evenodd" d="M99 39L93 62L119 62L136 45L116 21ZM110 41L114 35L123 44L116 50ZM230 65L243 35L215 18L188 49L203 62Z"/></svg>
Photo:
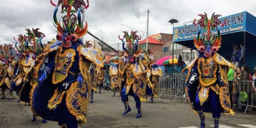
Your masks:
<svg viewBox="0 0 256 128"><path fill-rule="evenodd" d="M230 94L228 89L227 71L234 68L232 64L221 57L217 51L221 45L220 27L225 24L217 18L221 15L211 16L208 19L207 14L199 14L201 17L194 25L198 27L197 38L194 37L194 45L197 48L198 57L190 62L183 69L189 70L186 84L186 93L192 109L199 114L201 119L201 128L205 127L204 112L211 112L214 118L214 128L219 127L219 118L221 113L234 115L230 108ZM202 32L203 28L206 32ZM213 33L216 28L217 35Z"/></svg>

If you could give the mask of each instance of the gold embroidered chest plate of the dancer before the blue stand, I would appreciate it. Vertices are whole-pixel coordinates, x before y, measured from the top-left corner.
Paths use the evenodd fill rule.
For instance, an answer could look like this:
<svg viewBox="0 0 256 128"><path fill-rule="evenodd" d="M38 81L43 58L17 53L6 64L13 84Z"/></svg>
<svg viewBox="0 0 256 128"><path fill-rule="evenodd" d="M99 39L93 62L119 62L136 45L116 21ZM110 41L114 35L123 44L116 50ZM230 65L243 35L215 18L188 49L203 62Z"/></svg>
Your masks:
<svg viewBox="0 0 256 128"><path fill-rule="evenodd" d="M216 82L217 64L214 62L213 57L209 57L206 60L204 58L199 58L197 69L201 85L210 86Z"/></svg>

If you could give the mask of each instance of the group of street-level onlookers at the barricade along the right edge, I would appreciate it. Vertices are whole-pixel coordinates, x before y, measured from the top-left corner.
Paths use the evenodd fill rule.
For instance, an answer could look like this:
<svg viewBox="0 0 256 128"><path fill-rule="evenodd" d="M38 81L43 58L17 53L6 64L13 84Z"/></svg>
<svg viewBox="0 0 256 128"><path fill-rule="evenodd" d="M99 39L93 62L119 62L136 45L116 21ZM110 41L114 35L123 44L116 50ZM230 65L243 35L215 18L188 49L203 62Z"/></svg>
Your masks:
<svg viewBox="0 0 256 128"><path fill-rule="evenodd" d="M244 65L241 68L230 68L227 75L231 108L236 107L238 111L244 112L247 106L241 104L256 106L256 67L254 74L251 73L249 66ZM252 111L252 107L248 107L247 111Z"/></svg>

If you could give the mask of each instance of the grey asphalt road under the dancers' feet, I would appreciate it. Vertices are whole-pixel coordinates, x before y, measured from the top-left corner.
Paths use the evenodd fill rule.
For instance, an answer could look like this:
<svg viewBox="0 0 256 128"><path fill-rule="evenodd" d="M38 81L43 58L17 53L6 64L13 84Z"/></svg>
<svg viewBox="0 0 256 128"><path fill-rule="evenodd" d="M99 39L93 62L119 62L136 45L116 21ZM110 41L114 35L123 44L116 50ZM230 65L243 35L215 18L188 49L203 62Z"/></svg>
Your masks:
<svg viewBox="0 0 256 128"><path fill-rule="evenodd" d="M9 95L7 95L7 98ZM28 106L14 100L0 100L0 128L59 128L56 122L42 124L42 119L31 122L32 113ZM87 123L80 128L197 128L200 119L194 115L189 104L173 102L170 99L155 99L154 103L142 102L142 118L136 119L137 110L133 97L129 104L131 112L122 116L124 106L121 97L112 97L112 92L103 90L94 93L94 102L90 104ZM206 128L212 128L211 114L206 116ZM220 128L256 128L256 111L235 116L223 114ZM241 126L242 125L242 126Z"/></svg>

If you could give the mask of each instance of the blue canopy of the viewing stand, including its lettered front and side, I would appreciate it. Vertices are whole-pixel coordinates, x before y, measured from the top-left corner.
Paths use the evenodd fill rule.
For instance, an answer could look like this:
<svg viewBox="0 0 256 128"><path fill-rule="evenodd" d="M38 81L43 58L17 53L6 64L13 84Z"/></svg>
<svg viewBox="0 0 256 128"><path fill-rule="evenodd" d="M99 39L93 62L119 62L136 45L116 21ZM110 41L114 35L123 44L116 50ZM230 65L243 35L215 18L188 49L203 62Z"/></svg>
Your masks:
<svg viewBox="0 0 256 128"><path fill-rule="evenodd" d="M245 38L245 47L247 49L246 64L253 69L254 65L256 65L256 17L244 11L219 19L221 23L225 19L227 21L221 27L221 48L218 50L218 53L223 57L232 56L232 45L239 46L240 43L244 43ZM198 28L194 24L176 27L173 29L173 41L185 47L195 49L193 38L197 36L197 31ZM216 30L213 31L216 32Z"/></svg>

